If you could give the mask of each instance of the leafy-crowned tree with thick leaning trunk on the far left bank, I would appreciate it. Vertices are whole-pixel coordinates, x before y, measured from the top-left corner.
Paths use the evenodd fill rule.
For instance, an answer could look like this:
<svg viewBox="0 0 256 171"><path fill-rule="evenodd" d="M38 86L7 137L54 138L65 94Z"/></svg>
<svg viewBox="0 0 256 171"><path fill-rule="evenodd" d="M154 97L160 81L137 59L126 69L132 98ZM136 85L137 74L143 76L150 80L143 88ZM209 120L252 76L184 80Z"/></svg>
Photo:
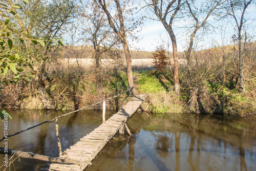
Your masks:
<svg viewBox="0 0 256 171"><path fill-rule="evenodd" d="M32 61L39 97L46 109L55 108L46 91L44 79L47 77L46 67L52 46L48 42L52 42L54 38L60 37L63 32L66 32L65 26L70 24L75 17L75 7L73 0L53 2L35 0L30 6L25 6L19 15L23 22L23 24L19 24L20 27L24 26L30 37L38 39L44 37L46 42L44 48L32 49L28 54ZM35 41L34 43L37 44Z"/></svg>

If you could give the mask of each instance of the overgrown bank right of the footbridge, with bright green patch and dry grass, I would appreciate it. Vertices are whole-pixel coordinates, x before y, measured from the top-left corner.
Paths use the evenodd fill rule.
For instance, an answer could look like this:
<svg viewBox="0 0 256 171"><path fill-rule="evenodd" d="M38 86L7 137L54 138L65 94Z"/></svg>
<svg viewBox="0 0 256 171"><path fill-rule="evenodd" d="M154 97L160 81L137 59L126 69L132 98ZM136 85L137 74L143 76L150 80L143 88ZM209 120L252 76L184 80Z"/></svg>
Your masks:
<svg viewBox="0 0 256 171"><path fill-rule="evenodd" d="M203 81L196 91L190 93L185 87L185 72L180 73L180 82L183 83L181 96L175 96L173 75L169 70L140 71L137 75L138 91L147 93L147 104L144 108L161 117L168 117L170 113L205 113L209 115L224 115L226 117L253 117L256 116L256 97L253 82L247 83L246 94L236 89L223 87L214 80ZM191 88L190 88L191 89ZM189 106L189 101L195 98L195 107Z"/></svg>

